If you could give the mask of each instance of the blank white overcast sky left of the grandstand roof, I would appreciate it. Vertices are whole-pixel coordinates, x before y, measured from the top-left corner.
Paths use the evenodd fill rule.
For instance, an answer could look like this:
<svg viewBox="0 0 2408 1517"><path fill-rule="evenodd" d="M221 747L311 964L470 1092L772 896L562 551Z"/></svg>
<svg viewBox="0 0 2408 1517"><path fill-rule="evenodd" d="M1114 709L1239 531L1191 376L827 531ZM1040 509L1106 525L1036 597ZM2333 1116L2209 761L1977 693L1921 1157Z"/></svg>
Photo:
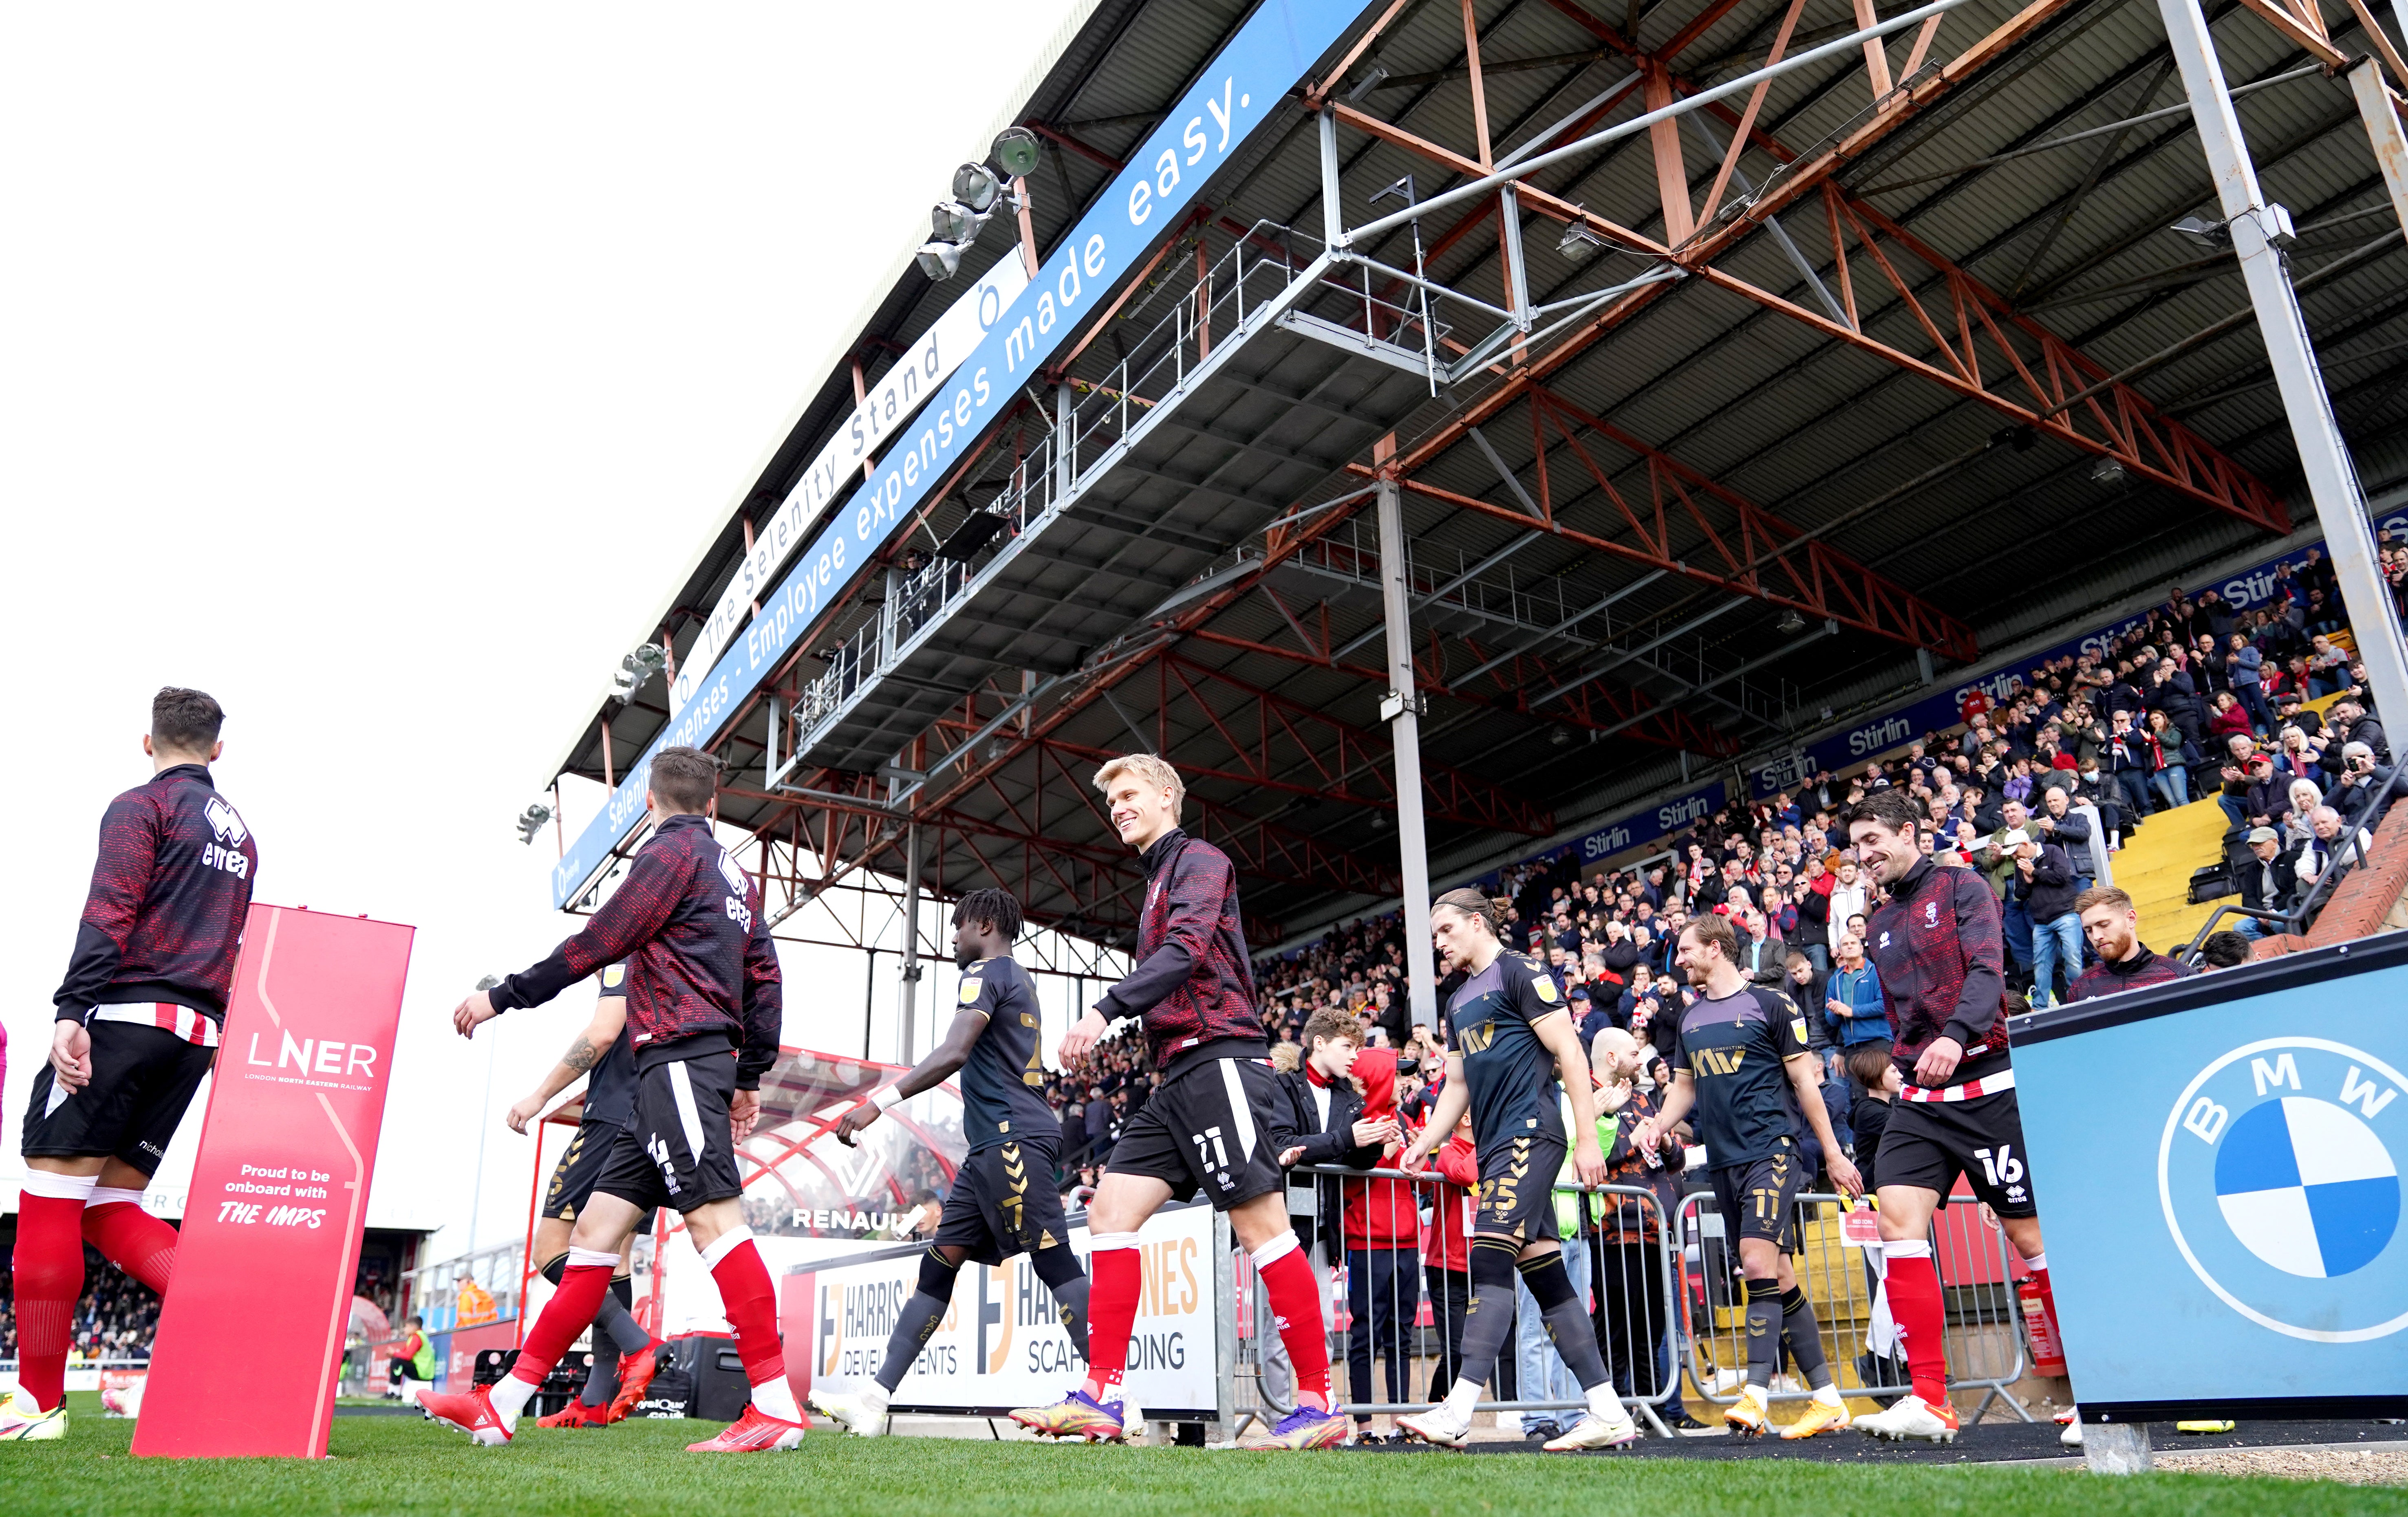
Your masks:
<svg viewBox="0 0 2408 1517"><path fill-rule="evenodd" d="M458 1250L489 1055L448 1009L568 927L510 819L1067 12L0 12L0 1175L101 807L190 684L258 898L419 929L376 1192ZM807 958L787 1043L857 1050L860 956ZM585 1004L496 1023L496 1112ZM486 1149L496 1242L530 1161Z"/></svg>

